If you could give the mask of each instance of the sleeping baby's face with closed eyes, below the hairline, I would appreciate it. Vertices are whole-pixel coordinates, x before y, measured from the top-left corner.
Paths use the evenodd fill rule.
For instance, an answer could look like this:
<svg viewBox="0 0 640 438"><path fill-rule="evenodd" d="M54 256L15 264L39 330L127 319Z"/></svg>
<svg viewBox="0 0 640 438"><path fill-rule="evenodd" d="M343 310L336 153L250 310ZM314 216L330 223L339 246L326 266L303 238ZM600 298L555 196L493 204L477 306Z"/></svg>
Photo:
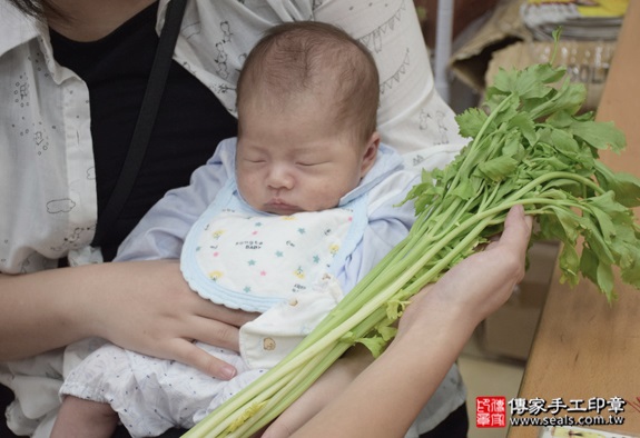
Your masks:
<svg viewBox="0 0 640 438"><path fill-rule="evenodd" d="M247 107L236 171L240 195L257 210L293 215L333 208L375 160L377 141L365 147L349 132L336 132L332 109L321 103L284 111Z"/></svg>

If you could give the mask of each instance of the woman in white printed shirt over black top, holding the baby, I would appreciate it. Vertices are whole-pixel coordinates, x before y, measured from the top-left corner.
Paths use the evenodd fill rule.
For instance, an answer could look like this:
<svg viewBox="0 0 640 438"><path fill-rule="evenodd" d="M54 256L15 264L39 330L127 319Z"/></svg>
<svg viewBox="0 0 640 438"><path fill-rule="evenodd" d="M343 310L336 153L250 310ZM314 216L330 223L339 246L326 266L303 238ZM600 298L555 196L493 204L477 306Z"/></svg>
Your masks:
<svg viewBox="0 0 640 438"><path fill-rule="evenodd" d="M214 145L235 135L235 80L264 29L306 19L341 26L370 48L381 70L385 142L420 151L412 158L426 166L457 151L441 142L462 143L452 111L433 89L408 0L190 0L134 189L99 247L91 246L127 157L167 6L0 2L0 93L10 102L0 109L0 381L24 396L10 411L20 432L47 435L65 367L55 349L78 339L102 337L220 378L235 372L191 341L237 348L237 327L253 315L199 299L175 261L95 262L109 261L148 208L186 185ZM73 268L52 269L67 261ZM31 377L35 368L49 378L41 379ZM349 379L348 369L334 372ZM32 385L38 397L22 392ZM416 424L420 432L464 414L455 367L442 388Z"/></svg>

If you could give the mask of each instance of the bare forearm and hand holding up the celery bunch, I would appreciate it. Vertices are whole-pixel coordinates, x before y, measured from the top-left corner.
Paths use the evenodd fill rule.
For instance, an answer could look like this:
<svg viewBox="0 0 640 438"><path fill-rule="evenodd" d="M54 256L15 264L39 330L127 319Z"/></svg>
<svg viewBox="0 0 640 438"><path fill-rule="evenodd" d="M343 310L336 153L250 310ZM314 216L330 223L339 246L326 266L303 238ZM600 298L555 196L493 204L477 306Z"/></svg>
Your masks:
<svg viewBox="0 0 640 438"><path fill-rule="evenodd" d="M403 437L475 327L524 276L530 233L531 219L513 208L501 239L415 296L388 349L293 436Z"/></svg>

